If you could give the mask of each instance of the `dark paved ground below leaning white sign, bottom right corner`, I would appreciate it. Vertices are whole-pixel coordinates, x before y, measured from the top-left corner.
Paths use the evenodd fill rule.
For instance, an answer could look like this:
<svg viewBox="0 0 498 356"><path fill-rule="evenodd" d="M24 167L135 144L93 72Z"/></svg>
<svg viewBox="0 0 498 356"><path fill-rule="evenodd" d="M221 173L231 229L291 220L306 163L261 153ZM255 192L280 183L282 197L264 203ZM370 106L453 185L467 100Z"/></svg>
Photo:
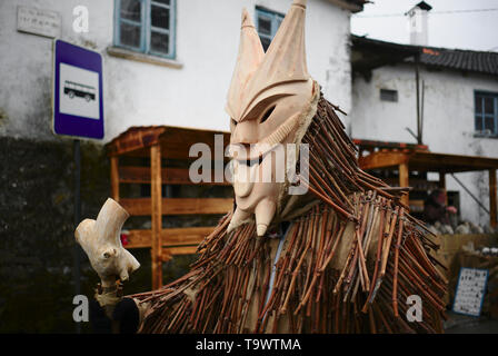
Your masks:
<svg viewBox="0 0 498 356"><path fill-rule="evenodd" d="M447 334L498 334L498 320L488 317L471 317L447 312Z"/></svg>

